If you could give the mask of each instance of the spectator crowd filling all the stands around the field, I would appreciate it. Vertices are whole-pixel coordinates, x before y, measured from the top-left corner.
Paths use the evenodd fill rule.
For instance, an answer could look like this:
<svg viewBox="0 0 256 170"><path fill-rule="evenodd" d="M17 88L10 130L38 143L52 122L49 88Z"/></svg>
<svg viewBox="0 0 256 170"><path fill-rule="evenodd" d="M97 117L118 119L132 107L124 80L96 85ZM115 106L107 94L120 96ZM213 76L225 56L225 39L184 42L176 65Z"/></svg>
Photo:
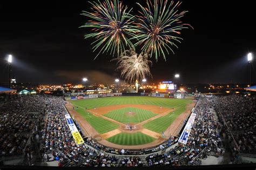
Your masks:
<svg viewBox="0 0 256 170"><path fill-rule="evenodd" d="M77 145L66 122L64 107L66 102L62 98L24 96L1 105L0 155L25 153L31 160L31 148L26 147L31 138L39 141L42 161L58 160L59 166L196 165L200 164L200 159L206 158L208 154L220 155L225 152L220 139L220 133L224 130L236 154L256 151L255 101L255 98L238 95L201 97L193 110L197 115L186 145L178 143L178 137L170 137L155 148L119 151L89 140L83 134L81 135L85 143ZM77 124L76 120L73 121ZM78 124L77 127L79 132L82 132ZM145 159L136 156L145 154L150 155Z"/></svg>

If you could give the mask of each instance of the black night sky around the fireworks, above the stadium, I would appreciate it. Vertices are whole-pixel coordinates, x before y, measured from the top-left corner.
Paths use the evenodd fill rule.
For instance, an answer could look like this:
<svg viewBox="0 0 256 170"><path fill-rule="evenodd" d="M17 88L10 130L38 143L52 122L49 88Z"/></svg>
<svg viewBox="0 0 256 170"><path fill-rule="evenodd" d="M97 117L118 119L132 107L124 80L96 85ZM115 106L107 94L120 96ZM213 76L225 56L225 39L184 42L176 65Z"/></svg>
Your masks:
<svg viewBox="0 0 256 170"><path fill-rule="evenodd" d="M138 10L136 2L123 0ZM87 1L1 1L0 2L0 83L8 81L8 54L14 57L12 76L30 83L111 83L120 78L112 55L92 52L94 39L84 39L88 30L78 28L88 18ZM248 83L247 53L254 54L256 68L255 6L253 1L183 1L184 23L193 29L181 31L184 38L175 55L167 61L152 58L153 79L180 83Z"/></svg>

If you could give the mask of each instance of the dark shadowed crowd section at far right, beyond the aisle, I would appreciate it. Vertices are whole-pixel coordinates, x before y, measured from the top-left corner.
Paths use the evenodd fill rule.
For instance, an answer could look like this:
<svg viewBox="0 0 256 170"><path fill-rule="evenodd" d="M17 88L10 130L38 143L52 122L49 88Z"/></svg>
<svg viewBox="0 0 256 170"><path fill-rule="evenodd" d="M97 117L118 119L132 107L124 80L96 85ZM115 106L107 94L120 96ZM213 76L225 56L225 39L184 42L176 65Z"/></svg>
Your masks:
<svg viewBox="0 0 256 170"><path fill-rule="evenodd" d="M240 153L256 152L256 99L233 94L217 97L213 101L215 111L224 124L223 133L232 146L235 157Z"/></svg>

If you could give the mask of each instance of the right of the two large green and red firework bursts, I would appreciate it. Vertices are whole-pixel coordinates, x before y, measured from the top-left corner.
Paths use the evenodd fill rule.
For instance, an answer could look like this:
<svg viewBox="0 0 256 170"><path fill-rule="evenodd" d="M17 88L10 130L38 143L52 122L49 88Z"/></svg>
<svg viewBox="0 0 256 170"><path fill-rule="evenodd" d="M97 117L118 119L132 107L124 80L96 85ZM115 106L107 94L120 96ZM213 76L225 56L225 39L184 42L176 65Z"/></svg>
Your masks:
<svg viewBox="0 0 256 170"><path fill-rule="evenodd" d="M181 2L167 3L167 0L153 0L153 4L147 0L147 8L137 4L142 11L136 16L139 31L136 37L131 38L138 39L134 45L142 45L142 52L150 54L150 57L154 54L156 60L160 55L166 60L165 52L173 52L170 46L178 48L176 43L181 43L180 30L190 26L180 21L187 11L178 12L177 8Z"/></svg>

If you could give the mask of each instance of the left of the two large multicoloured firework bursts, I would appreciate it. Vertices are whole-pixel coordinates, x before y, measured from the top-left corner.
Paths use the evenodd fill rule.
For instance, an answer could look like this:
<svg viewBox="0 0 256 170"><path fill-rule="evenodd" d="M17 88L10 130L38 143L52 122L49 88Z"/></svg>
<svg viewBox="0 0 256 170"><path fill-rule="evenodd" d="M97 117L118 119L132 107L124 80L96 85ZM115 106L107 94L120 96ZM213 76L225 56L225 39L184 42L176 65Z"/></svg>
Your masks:
<svg viewBox="0 0 256 170"><path fill-rule="evenodd" d="M92 43L94 45L93 52L100 49L99 53L110 52L114 56L114 53L117 52L119 56L125 51L125 47L134 49L133 44L127 38L134 37L134 32L137 31L132 25L134 16L130 14L131 10L127 10L127 6L124 6L119 0L90 3L93 12L83 11L81 15L87 16L91 20L80 28L92 29L93 33L85 35L84 38L96 39Z"/></svg>

